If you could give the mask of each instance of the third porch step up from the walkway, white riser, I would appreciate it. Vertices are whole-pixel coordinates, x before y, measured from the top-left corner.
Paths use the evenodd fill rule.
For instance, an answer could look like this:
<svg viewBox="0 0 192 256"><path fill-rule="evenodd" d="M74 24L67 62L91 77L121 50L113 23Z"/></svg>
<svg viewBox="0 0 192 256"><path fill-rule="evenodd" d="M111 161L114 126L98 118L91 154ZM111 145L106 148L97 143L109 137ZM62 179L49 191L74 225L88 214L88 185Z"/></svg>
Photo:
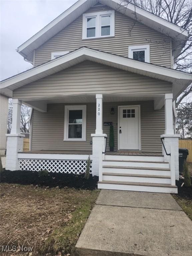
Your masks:
<svg viewBox="0 0 192 256"><path fill-rule="evenodd" d="M126 173L126 174L146 174L170 176L168 168L147 168L147 167L126 167L126 166L103 166L105 173Z"/></svg>

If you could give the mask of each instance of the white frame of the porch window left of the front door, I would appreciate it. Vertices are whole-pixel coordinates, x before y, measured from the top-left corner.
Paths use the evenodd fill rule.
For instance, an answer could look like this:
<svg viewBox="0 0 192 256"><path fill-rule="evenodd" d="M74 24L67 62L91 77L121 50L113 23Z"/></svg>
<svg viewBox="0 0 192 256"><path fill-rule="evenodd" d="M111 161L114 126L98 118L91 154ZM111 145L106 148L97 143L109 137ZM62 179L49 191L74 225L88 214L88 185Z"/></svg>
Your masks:
<svg viewBox="0 0 192 256"><path fill-rule="evenodd" d="M69 110L82 110L82 138L68 138ZM64 116L64 141L86 141L86 105L66 105Z"/></svg>

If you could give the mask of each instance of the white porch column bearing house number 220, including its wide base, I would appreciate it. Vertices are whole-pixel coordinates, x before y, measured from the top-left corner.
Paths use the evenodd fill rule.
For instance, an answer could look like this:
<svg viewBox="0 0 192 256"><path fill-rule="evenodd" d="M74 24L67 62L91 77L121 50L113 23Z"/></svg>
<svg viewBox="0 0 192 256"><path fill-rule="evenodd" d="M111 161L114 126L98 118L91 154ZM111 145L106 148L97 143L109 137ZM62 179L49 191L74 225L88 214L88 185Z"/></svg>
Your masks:
<svg viewBox="0 0 192 256"><path fill-rule="evenodd" d="M93 138L92 145L92 174L99 176L99 180L102 178L102 173L99 175L99 170L101 171L101 161L102 152L105 151L105 137L107 134L103 134L103 95L96 94L96 130L95 134L91 134Z"/></svg>

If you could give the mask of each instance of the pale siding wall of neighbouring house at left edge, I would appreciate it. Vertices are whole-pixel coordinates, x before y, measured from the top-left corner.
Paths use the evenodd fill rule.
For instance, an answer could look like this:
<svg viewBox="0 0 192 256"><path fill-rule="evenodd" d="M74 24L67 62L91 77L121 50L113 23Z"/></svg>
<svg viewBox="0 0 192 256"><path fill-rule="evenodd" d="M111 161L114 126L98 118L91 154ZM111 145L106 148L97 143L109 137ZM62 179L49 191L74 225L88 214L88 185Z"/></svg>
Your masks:
<svg viewBox="0 0 192 256"><path fill-rule="evenodd" d="M9 98L0 94L0 154L5 154Z"/></svg>

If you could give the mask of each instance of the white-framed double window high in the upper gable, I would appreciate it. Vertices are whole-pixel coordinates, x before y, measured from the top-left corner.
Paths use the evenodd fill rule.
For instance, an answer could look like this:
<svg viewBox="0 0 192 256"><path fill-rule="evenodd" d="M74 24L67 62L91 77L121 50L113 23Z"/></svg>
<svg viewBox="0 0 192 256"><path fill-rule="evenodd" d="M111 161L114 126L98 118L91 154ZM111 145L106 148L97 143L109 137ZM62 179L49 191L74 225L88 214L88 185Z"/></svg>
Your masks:
<svg viewBox="0 0 192 256"><path fill-rule="evenodd" d="M114 10L83 14L82 39L109 37L115 35Z"/></svg>

